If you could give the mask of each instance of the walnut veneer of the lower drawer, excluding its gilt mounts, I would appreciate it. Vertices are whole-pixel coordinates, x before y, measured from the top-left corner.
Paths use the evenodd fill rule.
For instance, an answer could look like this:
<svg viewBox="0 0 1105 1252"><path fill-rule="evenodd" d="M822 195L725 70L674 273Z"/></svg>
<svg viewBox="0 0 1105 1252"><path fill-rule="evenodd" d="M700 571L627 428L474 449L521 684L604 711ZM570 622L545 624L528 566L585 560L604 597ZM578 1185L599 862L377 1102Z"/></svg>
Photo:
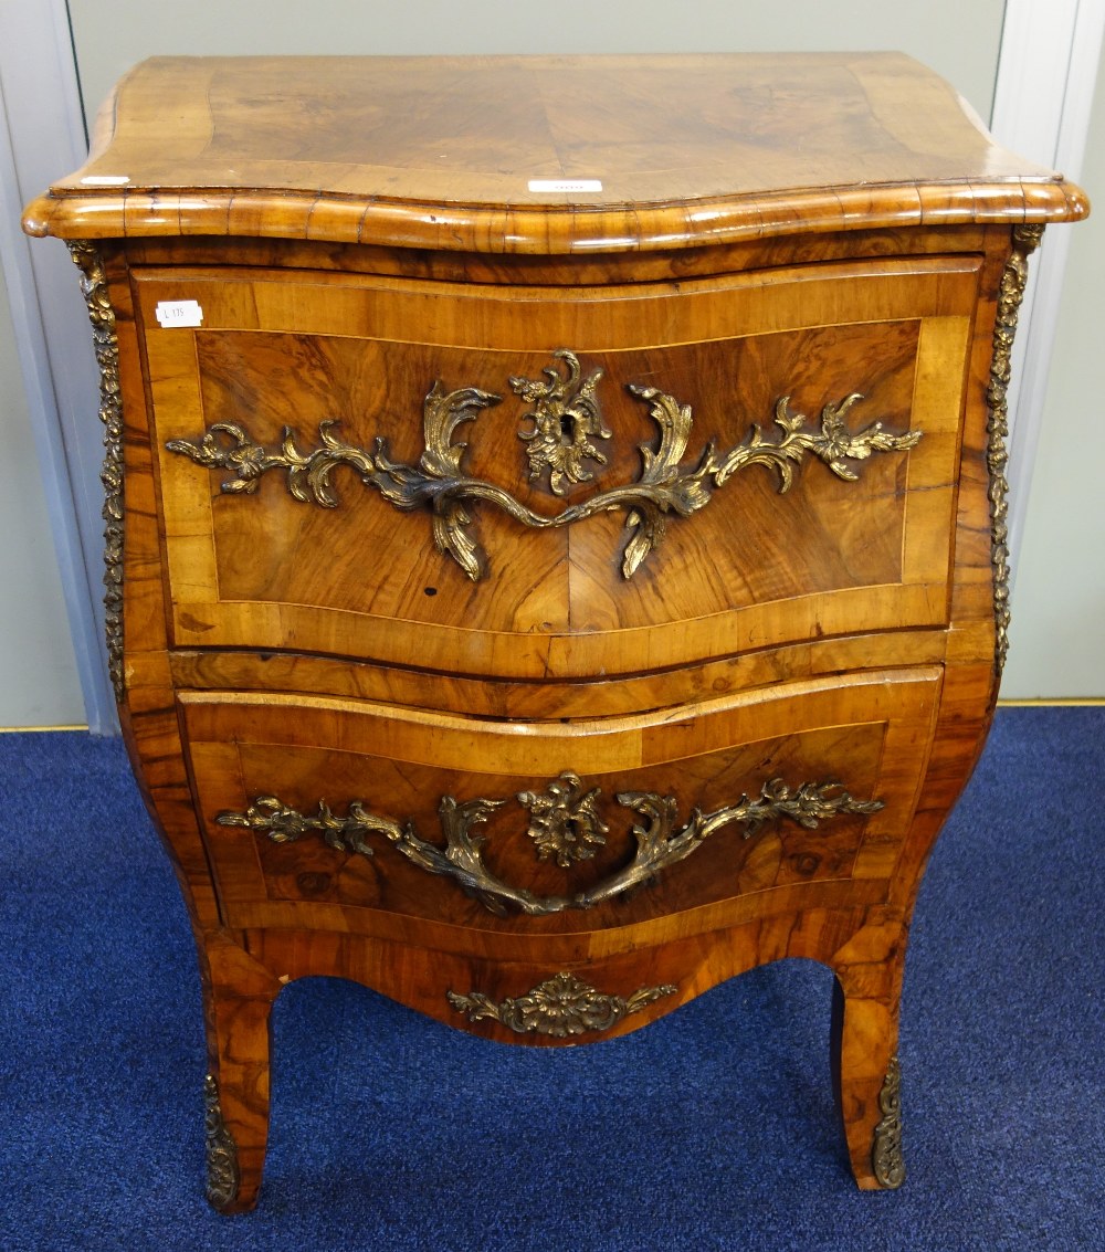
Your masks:
<svg viewBox="0 0 1105 1252"><path fill-rule="evenodd" d="M703 918L716 924L735 913L771 911L765 891L778 895L776 908L792 909L803 884L889 879L927 765L940 679L934 666L877 670L845 691L833 679L817 679L731 694L693 709L552 724L323 697L185 692L180 700L205 841L230 925L388 933L379 910L509 936L502 949L507 957L518 935L632 926L632 942L642 943L657 930L643 923L656 919L691 913L700 919L695 925L708 925ZM539 924L533 915L519 915L509 898L499 903L511 906L497 915L463 884L440 873L428 876L420 861L412 863L379 835L365 840L367 855L328 845L320 831L273 843L219 824L220 814L242 813L253 798L275 791L303 814L320 801L342 813L362 804L438 840L443 795L491 798L503 803L479 825L488 874L542 900L571 899L632 859L629 830L642 819L617 796L671 796L682 826L696 808L725 809L743 794L758 795L775 779L791 790L806 780L833 779L843 759L850 790L878 796L877 813L845 814L823 829L771 823L745 829L743 838L738 826L728 826L678 864L657 869L647 884L633 884L628 898L537 914ZM597 825L606 829L591 846L577 833L574 848L586 858L572 855L568 831L553 848L567 849L562 864L556 856L539 859L533 813L518 796L542 791L581 762L586 772L577 791L594 791ZM840 894L848 898L846 890ZM870 898L862 889L858 895ZM721 901L730 906L707 908ZM448 940L458 942L464 940Z"/></svg>

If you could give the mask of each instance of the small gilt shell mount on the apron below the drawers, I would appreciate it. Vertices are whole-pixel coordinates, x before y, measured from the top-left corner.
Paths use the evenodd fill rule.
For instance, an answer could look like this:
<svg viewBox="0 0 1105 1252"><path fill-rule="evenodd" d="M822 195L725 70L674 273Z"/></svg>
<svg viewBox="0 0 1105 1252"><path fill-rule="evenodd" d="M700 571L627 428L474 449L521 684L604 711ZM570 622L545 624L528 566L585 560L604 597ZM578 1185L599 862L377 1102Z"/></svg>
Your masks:
<svg viewBox="0 0 1105 1252"><path fill-rule="evenodd" d="M677 990L672 983L665 983L662 987L642 987L627 997L608 995L588 983L581 983L573 974L559 973L526 995L507 998L498 1004L482 992L467 995L446 992L446 997L469 1022L491 1018L517 1034L547 1034L564 1039L589 1030L609 1030L622 1018L639 1013L665 995L675 995Z"/></svg>

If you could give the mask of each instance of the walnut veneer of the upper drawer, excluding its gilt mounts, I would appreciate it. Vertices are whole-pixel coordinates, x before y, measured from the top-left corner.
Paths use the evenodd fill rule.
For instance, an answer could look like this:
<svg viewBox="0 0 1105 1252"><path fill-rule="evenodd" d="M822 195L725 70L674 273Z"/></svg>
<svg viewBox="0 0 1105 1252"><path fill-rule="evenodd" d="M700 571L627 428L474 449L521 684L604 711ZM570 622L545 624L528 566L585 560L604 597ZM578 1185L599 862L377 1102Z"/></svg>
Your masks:
<svg viewBox="0 0 1105 1252"><path fill-rule="evenodd" d="M698 660L856 625L942 623L980 269L977 257L926 257L591 290L138 270L174 641L294 641L529 677L642 670L657 654ZM203 307L203 326L159 333L158 304L184 299ZM239 421L259 448L278 448L289 429L307 452L320 424L337 422L344 443L384 438L389 456L414 464L422 401L440 379L507 393L464 431L466 470L548 516L549 493L518 439L527 404L508 386L541 377L548 343L571 343L588 374L602 371L602 483L638 477L639 447L654 436L649 404L629 384L662 386L690 406L688 462L707 443L738 444L753 423L771 428L782 398L816 424L826 404L860 393L857 424L924 438L909 462L872 457L857 483L803 463L780 496L770 466L743 471L723 500L672 525L632 580L621 575L623 515L547 533L473 503L488 567L476 585L456 563L442 567L423 516L397 517L349 468L334 473L338 507L293 498L270 472L258 508L240 495L213 498L205 476L170 451ZM594 495L599 485L587 486ZM365 560L383 546L387 562ZM325 561L312 558L319 551ZM885 595L872 600L872 587Z"/></svg>

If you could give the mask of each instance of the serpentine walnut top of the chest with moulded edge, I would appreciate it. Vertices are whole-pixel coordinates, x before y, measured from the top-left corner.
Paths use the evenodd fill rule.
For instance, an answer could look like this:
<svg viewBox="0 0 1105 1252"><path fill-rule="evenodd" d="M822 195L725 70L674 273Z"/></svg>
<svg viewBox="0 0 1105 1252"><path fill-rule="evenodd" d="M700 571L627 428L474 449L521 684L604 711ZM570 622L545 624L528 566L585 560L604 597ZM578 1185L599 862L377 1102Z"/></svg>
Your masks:
<svg viewBox="0 0 1105 1252"><path fill-rule="evenodd" d="M897 53L155 58L93 149L31 234L569 253L1089 212Z"/></svg>

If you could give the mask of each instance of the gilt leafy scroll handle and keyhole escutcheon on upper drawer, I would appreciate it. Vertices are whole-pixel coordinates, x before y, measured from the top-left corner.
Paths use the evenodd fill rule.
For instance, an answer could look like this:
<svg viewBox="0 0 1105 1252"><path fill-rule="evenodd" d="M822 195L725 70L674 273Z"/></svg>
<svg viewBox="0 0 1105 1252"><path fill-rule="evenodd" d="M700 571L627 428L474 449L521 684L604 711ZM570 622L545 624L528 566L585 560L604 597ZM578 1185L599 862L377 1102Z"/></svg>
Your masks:
<svg viewBox="0 0 1105 1252"><path fill-rule="evenodd" d="M591 436L606 438L608 432L602 424L596 396L602 372L594 371L581 383L578 357L567 349L558 349L554 357L564 362L567 379L549 368L546 369L548 382L512 378L511 387L534 404L527 414L534 423L533 431L522 433L531 442L531 477L534 468L539 475L547 467L551 490L559 493L564 480L582 482L591 477L583 461L604 459ZM632 578L662 542L668 517L690 517L705 508L713 492L740 470L752 464L775 470L778 490L786 492L793 482L795 466L810 453L838 478L855 482L858 473L853 462L865 461L875 452L907 451L916 447L922 433L894 434L883 429L881 422L852 431L847 419L852 407L862 399L858 392L840 403L826 404L820 429L806 429L806 418L791 412L790 397L783 396L775 407L775 424L780 432L775 438L768 438L753 424L736 447L718 452L710 442L697 463L687 466L683 456L693 424L691 407L656 387L631 383L627 389L648 406L648 414L659 432L658 446L639 446L641 475L636 482L599 491L552 516L534 512L494 483L467 476L463 464L467 444L453 443L453 434L462 423L474 421L482 409L501 403L502 397L476 387L447 391L440 381L433 384L423 402L425 451L417 466L392 461L382 437L373 441L370 449L343 442L335 433L337 421L319 424L322 446L305 453L299 451L290 427L284 427L278 448L267 448L235 422L215 422L199 439L170 439L165 447L201 466L230 470L233 476L222 483L222 491L229 493L250 495L263 475L283 470L288 491L295 500L323 508L337 507L332 476L338 466L348 466L395 508L410 512L428 507L438 550L477 582L486 571L479 547L468 530L472 516L467 506L472 501L494 505L523 526L537 530L572 526L597 513L623 510L632 533L622 555L622 573Z"/></svg>

